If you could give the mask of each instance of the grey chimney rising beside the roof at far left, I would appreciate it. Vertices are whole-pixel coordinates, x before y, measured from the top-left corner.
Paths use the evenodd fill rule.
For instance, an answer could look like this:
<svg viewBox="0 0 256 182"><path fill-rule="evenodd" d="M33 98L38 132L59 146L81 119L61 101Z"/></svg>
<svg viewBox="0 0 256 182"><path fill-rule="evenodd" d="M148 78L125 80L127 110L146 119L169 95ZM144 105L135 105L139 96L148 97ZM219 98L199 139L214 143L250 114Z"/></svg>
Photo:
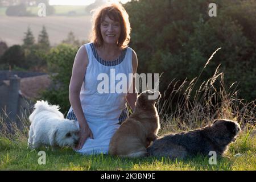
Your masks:
<svg viewBox="0 0 256 182"><path fill-rule="evenodd" d="M7 101L9 118L11 122L16 120L16 115L18 114L18 104L19 104L19 86L20 78L17 75L11 76L9 78L9 98Z"/></svg>

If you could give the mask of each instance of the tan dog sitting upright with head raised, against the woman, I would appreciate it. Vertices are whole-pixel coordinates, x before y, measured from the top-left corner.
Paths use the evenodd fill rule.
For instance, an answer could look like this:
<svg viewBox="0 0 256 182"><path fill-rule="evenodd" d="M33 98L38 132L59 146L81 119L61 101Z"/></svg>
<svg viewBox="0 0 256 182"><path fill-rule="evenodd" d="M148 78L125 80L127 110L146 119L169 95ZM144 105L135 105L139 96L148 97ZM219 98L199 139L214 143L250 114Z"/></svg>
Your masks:
<svg viewBox="0 0 256 182"><path fill-rule="evenodd" d="M158 97L151 100L150 96ZM159 92L147 90L139 94L133 114L119 127L110 140L109 154L135 158L145 156L150 142L157 138L160 129L155 103Z"/></svg>

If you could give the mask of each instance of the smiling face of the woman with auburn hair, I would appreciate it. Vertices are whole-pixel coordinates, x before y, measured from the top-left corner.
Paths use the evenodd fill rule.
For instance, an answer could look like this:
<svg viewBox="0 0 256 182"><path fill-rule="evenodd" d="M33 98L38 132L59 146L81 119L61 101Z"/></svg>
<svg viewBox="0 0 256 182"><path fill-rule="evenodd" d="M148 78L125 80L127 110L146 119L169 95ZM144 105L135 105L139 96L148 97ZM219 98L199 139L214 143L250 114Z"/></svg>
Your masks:
<svg viewBox="0 0 256 182"><path fill-rule="evenodd" d="M105 16L101 22L101 35L104 43L117 45L121 32L120 23Z"/></svg>

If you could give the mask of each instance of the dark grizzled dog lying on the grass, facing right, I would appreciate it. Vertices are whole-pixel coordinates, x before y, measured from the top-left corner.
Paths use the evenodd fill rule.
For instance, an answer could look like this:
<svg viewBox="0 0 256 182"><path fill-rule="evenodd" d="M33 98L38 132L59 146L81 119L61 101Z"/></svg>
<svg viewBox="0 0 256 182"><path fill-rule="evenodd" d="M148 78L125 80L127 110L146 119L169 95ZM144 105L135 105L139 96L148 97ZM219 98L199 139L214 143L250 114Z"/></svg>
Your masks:
<svg viewBox="0 0 256 182"><path fill-rule="evenodd" d="M151 156L167 156L172 159L197 154L208 155L210 151L222 155L228 144L236 140L240 130L237 122L216 119L212 125L203 129L165 135L155 140L147 151Z"/></svg>

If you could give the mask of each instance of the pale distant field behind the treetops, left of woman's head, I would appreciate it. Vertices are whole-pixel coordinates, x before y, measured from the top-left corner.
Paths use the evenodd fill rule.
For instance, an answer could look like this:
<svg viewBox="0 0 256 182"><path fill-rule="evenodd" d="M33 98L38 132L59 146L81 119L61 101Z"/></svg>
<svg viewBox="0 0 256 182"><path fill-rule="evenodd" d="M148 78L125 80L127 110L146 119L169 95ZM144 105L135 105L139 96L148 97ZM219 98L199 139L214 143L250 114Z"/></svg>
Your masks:
<svg viewBox="0 0 256 182"><path fill-rule="evenodd" d="M83 14L83 6L57 6L55 16L39 16L19 17L6 16L5 7L0 8L0 40L7 43L8 46L14 44L22 44L24 32L30 27L35 40L37 41L39 32L43 26L49 35L49 40L52 46L59 44L67 38L67 35L72 31L76 38L88 40L91 29L91 15ZM79 16L65 16L68 11L74 10ZM36 13L36 7L30 8L31 13Z"/></svg>

